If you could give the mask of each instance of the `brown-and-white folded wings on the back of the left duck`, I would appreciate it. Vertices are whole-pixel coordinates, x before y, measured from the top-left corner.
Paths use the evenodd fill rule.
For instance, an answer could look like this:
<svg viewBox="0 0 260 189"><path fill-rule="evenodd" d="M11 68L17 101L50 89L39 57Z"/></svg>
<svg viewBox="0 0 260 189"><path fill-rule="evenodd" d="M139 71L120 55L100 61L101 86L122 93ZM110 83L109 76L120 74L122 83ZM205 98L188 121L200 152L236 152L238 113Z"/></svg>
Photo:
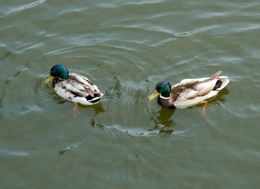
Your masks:
<svg viewBox="0 0 260 189"><path fill-rule="evenodd" d="M103 93L98 90L97 86L93 85L88 78L74 73L69 74L69 77L66 80L62 80L58 85L66 90L66 92L73 93L79 97L86 97L89 95L94 97L94 94L103 95Z"/></svg>

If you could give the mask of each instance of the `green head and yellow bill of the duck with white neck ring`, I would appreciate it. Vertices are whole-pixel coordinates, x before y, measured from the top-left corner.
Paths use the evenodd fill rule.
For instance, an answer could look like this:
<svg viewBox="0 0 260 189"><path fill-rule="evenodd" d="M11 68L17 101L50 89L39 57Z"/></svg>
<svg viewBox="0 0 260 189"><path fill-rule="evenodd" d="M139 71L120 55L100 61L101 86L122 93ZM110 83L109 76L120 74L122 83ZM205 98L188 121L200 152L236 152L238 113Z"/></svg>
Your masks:
<svg viewBox="0 0 260 189"><path fill-rule="evenodd" d="M155 92L148 97L148 100L154 99L161 93L161 96L168 98L171 93L171 84L168 81L160 81L155 87Z"/></svg>

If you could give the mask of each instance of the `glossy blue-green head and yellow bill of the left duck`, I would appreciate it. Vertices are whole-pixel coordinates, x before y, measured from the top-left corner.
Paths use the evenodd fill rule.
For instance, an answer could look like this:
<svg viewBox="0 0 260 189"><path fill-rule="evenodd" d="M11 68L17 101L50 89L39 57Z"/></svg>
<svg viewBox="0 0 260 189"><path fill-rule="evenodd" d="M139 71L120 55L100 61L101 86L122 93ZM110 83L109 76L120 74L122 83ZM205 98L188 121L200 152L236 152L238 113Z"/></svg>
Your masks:
<svg viewBox="0 0 260 189"><path fill-rule="evenodd" d="M51 68L50 75L44 83L48 83L54 77L58 77L61 80L65 80L69 77L69 72L65 66L57 64Z"/></svg>

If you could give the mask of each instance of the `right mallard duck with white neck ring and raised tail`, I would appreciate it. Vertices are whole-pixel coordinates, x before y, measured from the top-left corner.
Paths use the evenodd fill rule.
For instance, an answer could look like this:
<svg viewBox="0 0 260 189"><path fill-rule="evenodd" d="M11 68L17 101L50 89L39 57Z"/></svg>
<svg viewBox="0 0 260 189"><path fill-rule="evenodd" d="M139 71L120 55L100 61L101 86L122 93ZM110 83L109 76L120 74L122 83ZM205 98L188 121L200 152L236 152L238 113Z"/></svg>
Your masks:
<svg viewBox="0 0 260 189"><path fill-rule="evenodd" d="M184 79L172 87L168 81L160 81L148 100L154 99L161 93L158 104L171 109L187 108L205 102L204 100L215 96L229 83L228 77L218 77L220 73L221 71L212 77Z"/></svg>

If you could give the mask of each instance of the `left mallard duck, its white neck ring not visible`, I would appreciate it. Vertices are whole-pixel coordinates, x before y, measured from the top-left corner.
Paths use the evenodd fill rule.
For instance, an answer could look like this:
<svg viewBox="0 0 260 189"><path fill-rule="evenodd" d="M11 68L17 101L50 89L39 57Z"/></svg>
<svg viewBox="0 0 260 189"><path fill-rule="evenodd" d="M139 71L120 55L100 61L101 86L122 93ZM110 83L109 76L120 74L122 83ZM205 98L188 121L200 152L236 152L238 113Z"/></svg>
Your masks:
<svg viewBox="0 0 260 189"><path fill-rule="evenodd" d="M71 102L82 105L99 103L101 93L96 85L93 85L88 78L68 72L63 65L57 64L50 70L50 75L44 83L53 79L53 87L57 95ZM75 110L75 109L74 109Z"/></svg>

